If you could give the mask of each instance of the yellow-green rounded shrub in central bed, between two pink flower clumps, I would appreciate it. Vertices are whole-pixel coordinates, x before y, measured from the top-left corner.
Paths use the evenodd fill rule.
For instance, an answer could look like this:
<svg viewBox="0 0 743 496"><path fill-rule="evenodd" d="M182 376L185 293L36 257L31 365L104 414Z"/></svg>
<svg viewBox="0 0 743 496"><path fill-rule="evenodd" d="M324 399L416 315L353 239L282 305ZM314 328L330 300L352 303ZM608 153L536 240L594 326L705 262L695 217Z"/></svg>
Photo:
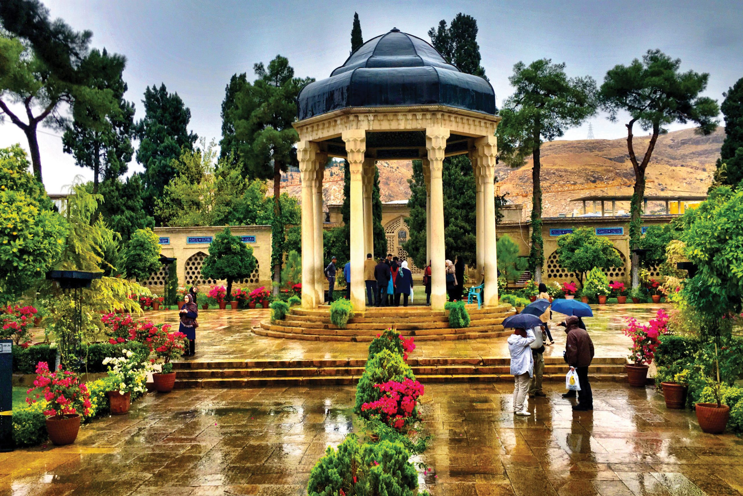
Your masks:
<svg viewBox="0 0 743 496"><path fill-rule="evenodd" d="M361 405L375 402L382 396L382 393L377 387L374 387L374 384L383 384L388 381L402 382L406 377L415 380L412 370L398 353L381 350L376 355L371 355L369 360L366 361L366 367L364 367L359 384L356 386L354 413L368 420L369 413L362 412Z"/></svg>

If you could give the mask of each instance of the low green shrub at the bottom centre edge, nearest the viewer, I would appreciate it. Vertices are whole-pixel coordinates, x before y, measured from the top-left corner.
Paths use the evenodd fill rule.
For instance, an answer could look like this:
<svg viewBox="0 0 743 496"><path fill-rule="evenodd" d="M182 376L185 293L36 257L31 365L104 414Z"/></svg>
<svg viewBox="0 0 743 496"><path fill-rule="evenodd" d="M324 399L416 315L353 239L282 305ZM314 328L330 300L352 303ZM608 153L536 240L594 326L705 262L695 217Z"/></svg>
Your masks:
<svg viewBox="0 0 743 496"><path fill-rule="evenodd" d="M328 447L312 468L307 494L334 496L343 489L348 496L419 495L418 472L409 458L400 442L362 445L354 434L348 434L337 450Z"/></svg>

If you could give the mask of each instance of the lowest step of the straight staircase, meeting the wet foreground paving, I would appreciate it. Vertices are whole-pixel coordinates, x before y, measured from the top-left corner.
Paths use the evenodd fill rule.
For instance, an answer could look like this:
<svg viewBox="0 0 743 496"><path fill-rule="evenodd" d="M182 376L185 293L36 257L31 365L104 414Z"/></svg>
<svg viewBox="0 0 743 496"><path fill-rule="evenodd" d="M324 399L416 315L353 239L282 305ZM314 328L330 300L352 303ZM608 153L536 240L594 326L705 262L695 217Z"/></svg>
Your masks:
<svg viewBox="0 0 743 496"><path fill-rule="evenodd" d="M626 382L626 375L591 373L591 381L597 382ZM239 378L209 378L209 379L176 379L176 389L192 388L227 388L227 387L265 387L265 386L311 386L331 384L356 384L360 376L291 376L291 377L239 377ZM431 382L510 382L513 376L508 374L422 374L416 376L422 383ZM545 374L544 381L565 381L564 373Z"/></svg>

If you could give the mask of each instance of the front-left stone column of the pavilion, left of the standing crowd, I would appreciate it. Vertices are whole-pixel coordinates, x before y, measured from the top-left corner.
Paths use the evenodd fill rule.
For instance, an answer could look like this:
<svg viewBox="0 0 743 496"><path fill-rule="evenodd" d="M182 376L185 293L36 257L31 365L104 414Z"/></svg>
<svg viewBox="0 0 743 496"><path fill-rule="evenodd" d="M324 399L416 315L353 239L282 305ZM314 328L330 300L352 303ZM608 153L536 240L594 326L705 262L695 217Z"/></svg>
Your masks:
<svg viewBox="0 0 743 496"><path fill-rule="evenodd" d="M363 165L366 152L366 131L348 129L343 131L346 159L351 170L351 303L356 312L366 309L366 287L364 284L364 207Z"/></svg>

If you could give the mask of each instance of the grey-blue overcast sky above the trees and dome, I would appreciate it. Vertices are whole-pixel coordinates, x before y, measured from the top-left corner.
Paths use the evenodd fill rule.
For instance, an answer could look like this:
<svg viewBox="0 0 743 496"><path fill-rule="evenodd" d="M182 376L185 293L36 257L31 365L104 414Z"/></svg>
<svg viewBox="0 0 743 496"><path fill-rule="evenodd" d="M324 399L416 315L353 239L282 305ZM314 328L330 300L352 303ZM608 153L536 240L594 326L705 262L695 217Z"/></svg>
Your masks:
<svg viewBox="0 0 743 496"><path fill-rule="evenodd" d="M458 13L478 22L482 65L498 106L512 88L513 64L548 57L565 62L571 76L591 75L660 48L682 60L682 70L710 73L705 94L716 100L743 77L743 1L138 1L44 0L51 16L77 30L93 31L92 45L126 55L126 99L141 103L146 86L165 83L191 109L199 137L220 138L224 86L232 74L253 77L254 62L282 54L296 75L328 77L350 51L351 23L359 13L365 40L397 27L428 40L427 31ZM591 119L596 138L621 138L623 123L603 115ZM688 125L687 125L688 126ZM687 126L674 126L681 129ZM59 131L39 134L47 190L56 193L76 174L62 152ZM48 133L48 134L45 134ZM584 139L588 123L565 133ZM0 125L0 146L25 135L8 120ZM132 164L132 170L141 170Z"/></svg>

